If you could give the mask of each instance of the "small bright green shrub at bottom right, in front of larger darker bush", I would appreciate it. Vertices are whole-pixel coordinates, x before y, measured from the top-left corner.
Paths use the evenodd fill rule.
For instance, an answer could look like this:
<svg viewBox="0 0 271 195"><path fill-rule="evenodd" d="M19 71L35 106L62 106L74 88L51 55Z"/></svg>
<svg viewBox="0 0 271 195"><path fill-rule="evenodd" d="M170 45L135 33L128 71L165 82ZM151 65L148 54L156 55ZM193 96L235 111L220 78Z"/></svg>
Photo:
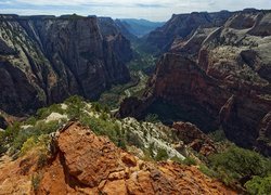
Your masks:
<svg viewBox="0 0 271 195"><path fill-rule="evenodd" d="M249 194L266 195L271 193L271 174L264 178L258 176L245 183L245 187Z"/></svg>

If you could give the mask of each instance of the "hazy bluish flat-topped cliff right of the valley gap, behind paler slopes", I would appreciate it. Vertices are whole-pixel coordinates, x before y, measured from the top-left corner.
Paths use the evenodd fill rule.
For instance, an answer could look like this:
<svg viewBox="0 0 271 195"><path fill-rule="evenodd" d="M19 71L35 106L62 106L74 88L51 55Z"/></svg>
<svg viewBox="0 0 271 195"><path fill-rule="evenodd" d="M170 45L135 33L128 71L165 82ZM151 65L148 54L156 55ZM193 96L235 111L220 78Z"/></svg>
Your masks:
<svg viewBox="0 0 271 195"><path fill-rule="evenodd" d="M232 15L231 12L221 11L217 13L193 12L191 14L173 14L163 26L150 32L147 42L156 46L162 51L167 51L175 39L191 37L201 27L218 27Z"/></svg>

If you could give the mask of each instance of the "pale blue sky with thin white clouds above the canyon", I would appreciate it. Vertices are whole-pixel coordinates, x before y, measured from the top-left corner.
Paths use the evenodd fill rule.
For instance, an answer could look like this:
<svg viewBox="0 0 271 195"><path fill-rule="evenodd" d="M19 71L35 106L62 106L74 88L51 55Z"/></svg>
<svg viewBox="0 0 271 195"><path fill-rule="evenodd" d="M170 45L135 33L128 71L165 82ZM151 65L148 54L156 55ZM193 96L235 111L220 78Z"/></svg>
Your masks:
<svg viewBox="0 0 271 195"><path fill-rule="evenodd" d="M20 15L98 15L167 21L194 11L270 9L271 0L0 0L0 13Z"/></svg>

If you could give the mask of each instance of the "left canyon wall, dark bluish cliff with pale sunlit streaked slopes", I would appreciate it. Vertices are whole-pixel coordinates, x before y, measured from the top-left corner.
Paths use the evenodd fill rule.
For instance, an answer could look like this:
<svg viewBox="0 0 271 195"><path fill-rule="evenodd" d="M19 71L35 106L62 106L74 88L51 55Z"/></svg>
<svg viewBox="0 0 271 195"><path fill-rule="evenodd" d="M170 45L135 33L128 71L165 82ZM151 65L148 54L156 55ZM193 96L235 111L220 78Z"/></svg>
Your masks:
<svg viewBox="0 0 271 195"><path fill-rule="evenodd" d="M95 99L130 79L130 42L113 25L103 30L96 17L1 15L0 23L0 108L7 113L72 94Z"/></svg>

